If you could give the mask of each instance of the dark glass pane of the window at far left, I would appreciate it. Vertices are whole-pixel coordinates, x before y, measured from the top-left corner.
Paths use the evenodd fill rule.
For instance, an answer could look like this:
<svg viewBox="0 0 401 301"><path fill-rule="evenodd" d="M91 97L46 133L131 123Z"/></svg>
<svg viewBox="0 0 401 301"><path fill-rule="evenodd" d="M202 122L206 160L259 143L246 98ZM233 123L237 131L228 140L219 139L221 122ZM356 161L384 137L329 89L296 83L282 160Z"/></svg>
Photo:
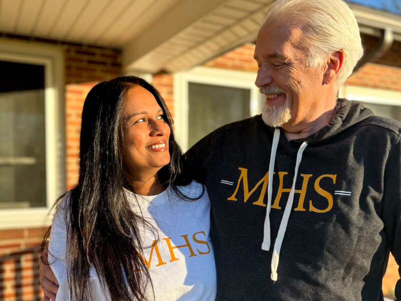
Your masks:
<svg viewBox="0 0 401 301"><path fill-rule="evenodd" d="M46 206L45 68L0 61L0 209Z"/></svg>

